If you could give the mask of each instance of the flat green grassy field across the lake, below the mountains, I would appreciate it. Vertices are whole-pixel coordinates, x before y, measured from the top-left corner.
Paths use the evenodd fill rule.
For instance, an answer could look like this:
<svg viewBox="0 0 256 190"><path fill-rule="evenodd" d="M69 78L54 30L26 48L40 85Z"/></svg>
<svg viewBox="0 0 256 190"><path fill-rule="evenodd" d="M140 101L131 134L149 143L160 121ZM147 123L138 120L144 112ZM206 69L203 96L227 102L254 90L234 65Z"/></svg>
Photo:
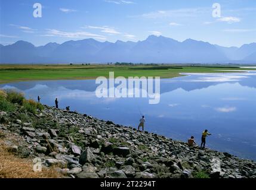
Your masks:
<svg viewBox="0 0 256 190"><path fill-rule="evenodd" d="M248 70L229 66L180 66L180 65L0 65L0 83L29 80L81 80L99 76L109 77L114 71L115 77L161 77L173 78L180 72L223 72L228 70ZM252 69L253 70L253 69ZM255 70L255 69L254 69Z"/></svg>

